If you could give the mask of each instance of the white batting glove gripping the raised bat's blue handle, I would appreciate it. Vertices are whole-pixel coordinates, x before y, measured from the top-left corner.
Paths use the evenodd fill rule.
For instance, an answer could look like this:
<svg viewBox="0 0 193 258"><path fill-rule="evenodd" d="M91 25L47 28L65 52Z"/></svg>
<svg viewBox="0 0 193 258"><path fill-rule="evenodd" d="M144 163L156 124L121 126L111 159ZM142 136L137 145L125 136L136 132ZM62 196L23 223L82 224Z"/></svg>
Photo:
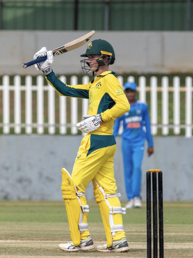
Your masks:
<svg viewBox="0 0 193 258"><path fill-rule="evenodd" d="M46 47L42 47L37 53L35 53L34 59L38 57L45 57L45 56L47 56L47 59L45 61L39 62L34 66L37 69L37 71L42 70L42 72L45 75L47 75L52 71L50 67L50 63L53 63L54 61L54 56L52 51L51 50L47 51Z"/></svg>

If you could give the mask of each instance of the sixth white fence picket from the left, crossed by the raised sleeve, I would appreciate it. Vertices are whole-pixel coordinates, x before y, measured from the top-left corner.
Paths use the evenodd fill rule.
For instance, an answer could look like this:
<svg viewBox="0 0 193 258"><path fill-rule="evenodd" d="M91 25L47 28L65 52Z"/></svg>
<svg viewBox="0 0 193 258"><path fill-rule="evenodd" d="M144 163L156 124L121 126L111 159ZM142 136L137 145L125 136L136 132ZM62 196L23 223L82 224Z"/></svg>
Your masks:
<svg viewBox="0 0 193 258"><path fill-rule="evenodd" d="M60 76L60 80L63 83L66 83L66 77L64 75ZM59 132L60 134L66 134L67 133L67 114L66 114L66 97L59 95L59 113L60 113L60 127Z"/></svg>

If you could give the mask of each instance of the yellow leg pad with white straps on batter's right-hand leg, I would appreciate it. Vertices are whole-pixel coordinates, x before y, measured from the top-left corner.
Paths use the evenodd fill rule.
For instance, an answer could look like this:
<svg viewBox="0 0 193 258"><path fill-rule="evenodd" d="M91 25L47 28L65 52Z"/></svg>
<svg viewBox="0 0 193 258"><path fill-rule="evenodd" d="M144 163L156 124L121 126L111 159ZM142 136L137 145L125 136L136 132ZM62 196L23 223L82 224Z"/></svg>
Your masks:
<svg viewBox="0 0 193 258"><path fill-rule="evenodd" d="M93 186L94 196L98 203L105 229L107 247L110 247L113 244L113 240L115 240L115 236L120 237L119 239L125 237L122 220L125 208L120 207L119 194L105 194L103 188L99 187L96 180L93 180Z"/></svg>

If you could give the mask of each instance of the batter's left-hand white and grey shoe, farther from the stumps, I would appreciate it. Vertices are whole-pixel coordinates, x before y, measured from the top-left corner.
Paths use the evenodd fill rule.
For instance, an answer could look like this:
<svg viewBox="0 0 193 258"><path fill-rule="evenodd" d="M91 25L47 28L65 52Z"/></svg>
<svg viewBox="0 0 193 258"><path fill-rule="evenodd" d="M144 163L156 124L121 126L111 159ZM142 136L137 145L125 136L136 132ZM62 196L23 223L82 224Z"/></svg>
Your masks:
<svg viewBox="0 0 193 258"><path fill-rule="evenodd" d="M87 239L80 239L80 245L73 245L72 241L70 241L66 244L59 244L58 248L67 252L77 252L94 249L95 245L91 237L88 236Z"/></svg>

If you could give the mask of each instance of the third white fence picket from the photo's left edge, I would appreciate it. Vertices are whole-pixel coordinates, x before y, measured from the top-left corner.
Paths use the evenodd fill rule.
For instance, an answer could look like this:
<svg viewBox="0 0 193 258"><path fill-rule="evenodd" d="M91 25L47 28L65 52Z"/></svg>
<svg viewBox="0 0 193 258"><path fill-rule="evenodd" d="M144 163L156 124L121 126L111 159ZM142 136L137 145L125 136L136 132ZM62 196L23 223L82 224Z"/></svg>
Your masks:
<svg viewBox="0 0 193 258"><path fill-rule="evenodd" d="M32 133L32 77L26 76L25 79L26 92L25 92L25 123L26 134Z"/></svg>

